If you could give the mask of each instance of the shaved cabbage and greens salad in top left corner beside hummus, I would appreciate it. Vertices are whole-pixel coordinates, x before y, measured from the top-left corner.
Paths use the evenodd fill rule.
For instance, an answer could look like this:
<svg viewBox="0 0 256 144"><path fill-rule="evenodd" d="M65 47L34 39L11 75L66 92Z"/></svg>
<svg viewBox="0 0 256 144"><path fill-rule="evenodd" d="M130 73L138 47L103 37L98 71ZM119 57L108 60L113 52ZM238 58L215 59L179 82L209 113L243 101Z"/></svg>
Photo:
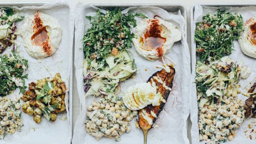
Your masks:
<svg viewBox="0 0 256 144"><path fill-rule="evenodd" d="M16 21L23 20L24 16L14 15L14 9L10 7L0 8L0 53L14 44L17 35L15 31Z"/></svg>

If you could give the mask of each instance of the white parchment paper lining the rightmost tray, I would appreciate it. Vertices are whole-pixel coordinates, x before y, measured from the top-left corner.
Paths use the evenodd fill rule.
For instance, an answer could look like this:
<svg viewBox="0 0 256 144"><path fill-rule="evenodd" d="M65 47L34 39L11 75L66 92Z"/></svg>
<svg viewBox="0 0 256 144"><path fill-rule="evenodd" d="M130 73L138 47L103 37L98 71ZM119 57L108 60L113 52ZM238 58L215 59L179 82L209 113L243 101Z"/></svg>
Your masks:
<svg viewBox="0 0 256 144"><path fill-rule="evenodd" d="M193 21L193 31L192 31L192 37L195 35L195 27L196 22L202 21L203 15L207 14L208 12L212 14L217 14L217 10L226 10L227 12L232 12L233 14L239 13L243 17L243 21L247 21L250 18L256 16L256 7L202 7L200 5L195 5L195 12L194 12L194 21ZM190 85L190 119L192 121L192 128L191 128L191 137L192 137L192 144L205 144L205 141L199 142L199 128L198 128L198 105L197 105L197 96L196 96L196 84L195 76L196 76L196 44L195 41L192 40L192 47L191 47L191 57L192 57L192 75L191 75L191 85ZM234 41L234 49L235 51L232 52L230 55L231 59L236 60L238 63L243 61L244 65L249 66L252 68L252 74L249 78L245 80L240 81L241 91L245 91L245 87L249 87L249 82L252 81L254 77L256 77L256 60L254 58L251 58L249 56L246 56L239 48L238 41ZM238 94L238 98L241 98L243 101L246 100L248 97L243 96L242 94ZM248 130L248 124L251 124L252 126L255 126L256 119L245 119L244 123L240 128L238 129L235 138L232 141L228 140L228 144L255 144L256 140L250 140L249 132L245 133L246 130ZM256 127L254 127L255 130ZM253 129L253 128L252 128ZM252 130L251 129L251 130ZM250 133L254 135L255 133ZM221 143L220 143L221 144Z"/></svg>

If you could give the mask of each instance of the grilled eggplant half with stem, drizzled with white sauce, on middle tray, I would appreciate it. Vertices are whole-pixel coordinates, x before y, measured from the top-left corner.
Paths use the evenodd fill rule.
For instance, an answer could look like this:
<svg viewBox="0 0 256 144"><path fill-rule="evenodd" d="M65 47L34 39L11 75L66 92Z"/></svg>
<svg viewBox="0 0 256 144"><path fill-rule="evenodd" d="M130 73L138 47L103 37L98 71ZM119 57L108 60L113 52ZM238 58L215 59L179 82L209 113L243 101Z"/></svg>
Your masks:
<svg viewBox="0 0 256 144"><path fill-rule="evenodd" d="M171 66L167 67L170 69L169 73L162 69L149 77L149 80L147 81L150 82L150 84L153 82L156 83L156 92L161 93L163 100L160 102L160 105L147 105L144 109L139 110L139 127L144 133L144 144L146 144L147 131L152 128L153 123L156 121L157 116L163 110L164 104L171 92L175 69ZM152 113L154 114L152 115ZM146 115L146 117L143 117L143 115Z"/></svg>

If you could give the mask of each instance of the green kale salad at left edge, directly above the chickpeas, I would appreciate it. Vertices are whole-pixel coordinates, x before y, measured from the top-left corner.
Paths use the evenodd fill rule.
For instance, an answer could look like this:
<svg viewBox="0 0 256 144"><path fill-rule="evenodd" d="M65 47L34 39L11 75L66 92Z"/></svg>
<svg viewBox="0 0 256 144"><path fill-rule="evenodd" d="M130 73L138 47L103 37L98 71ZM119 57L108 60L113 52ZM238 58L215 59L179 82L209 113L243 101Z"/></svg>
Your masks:
<svg viewBox="0 0 256 144"><path fill-rule="evenodd" d="M25 74L28 68L28 60L20 57L17 50L13 49L8 55L0 55L0 96L11 94L16 88L20 88L20 93L24 93L25 79L28 74Z"/></svg>

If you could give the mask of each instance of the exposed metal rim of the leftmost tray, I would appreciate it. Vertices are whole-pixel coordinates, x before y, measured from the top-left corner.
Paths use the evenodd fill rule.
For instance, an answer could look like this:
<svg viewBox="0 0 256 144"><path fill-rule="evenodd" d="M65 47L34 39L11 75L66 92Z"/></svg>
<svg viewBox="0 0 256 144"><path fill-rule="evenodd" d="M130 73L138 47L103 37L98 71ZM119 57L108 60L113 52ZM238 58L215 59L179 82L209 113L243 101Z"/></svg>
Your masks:
<svg viewBox="0 0 256 144"><path fill-rule="evenodd" d="M43 6L44 4L49 4L49 3L53 3L50 1L46 1L46 2L0 2L0 7L1 6L14 6L14 7L25 7L25 6L36 6L36 7L40 7ZM68 5L69 8L70 5ZM75 23L74 23L75 24ZM75 32L75 28L74 28L74 32ZM72 42L72 54L71 54L71 68L70 68L70 75L69 75L69 91L68 91L68 113L69 113L69 125L71 128L71 132L70 132L70 137L71 137L71 141L72 141L72 137L73 137L73 116L72 116L72 110L73 110L73 50L74 50L74 32L71 34L73 35L73 42Z"/></svg>

